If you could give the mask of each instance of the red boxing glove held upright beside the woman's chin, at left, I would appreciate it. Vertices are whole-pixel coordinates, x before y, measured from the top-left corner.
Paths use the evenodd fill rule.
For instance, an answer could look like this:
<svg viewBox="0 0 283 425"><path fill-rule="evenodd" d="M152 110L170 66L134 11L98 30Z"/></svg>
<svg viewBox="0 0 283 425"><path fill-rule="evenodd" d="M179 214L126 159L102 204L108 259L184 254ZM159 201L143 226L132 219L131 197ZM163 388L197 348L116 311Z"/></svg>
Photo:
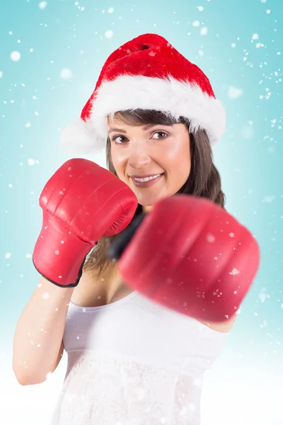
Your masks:
<svg viewBox="0 0 283 425"><path fill-rule="evenodd" d="M40 207L43 222L33 251L35 268L55 285L74 287L98 239L129 225L137 198L110 171L74 158L47 181Z"/></svg>

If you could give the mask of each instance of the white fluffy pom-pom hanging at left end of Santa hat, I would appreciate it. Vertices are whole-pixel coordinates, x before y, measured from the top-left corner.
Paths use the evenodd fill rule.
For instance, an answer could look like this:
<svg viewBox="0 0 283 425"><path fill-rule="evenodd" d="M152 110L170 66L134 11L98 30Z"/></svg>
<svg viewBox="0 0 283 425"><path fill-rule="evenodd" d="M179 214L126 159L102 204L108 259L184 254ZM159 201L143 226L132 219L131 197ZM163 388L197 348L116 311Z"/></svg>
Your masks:
<svg viewBox="0 0 283 425"><path fill-rule="evenodd" d="M80 119L62 130L60 145L67 152L93 154L103 148L103 141L98 140L91 123Z"/></svg>

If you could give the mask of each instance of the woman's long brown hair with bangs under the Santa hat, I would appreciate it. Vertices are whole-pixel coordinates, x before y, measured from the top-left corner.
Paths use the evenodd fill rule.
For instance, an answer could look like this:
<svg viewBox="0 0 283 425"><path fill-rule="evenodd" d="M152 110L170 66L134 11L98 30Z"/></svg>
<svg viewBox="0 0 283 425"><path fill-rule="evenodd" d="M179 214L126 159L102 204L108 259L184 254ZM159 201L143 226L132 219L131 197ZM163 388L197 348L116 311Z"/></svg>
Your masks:
<svg viewBox="0 0 283 425"><path fill-rule="evenodd" d="M125 123L127 125L173 125L175 123L183 123L190 132L190 123L186 118L180 117L176 120L169 113L162 113L161 111L141 109L119 111L117 113L113 113L109 118L115 118L120 120L121 123ZM187 193L187 195L207 198L224 208L226 198L221 190L221 178L219 171L214 165L212 147L209 143L209 137L205 130L196 130L194 133L190 132L190 154L190 175L178 193ZM109 138L106 142L106 164L108 170L117 176L112 164ZM138 205L133 220L141 212L142 207L141 205ZM101 273L103 273L105 269L112 268L114 266L115 263L107 257L107 250L115 237L117 236L103 237L98 241L96 247L90 254L88 254L83 265L84 271L93 270L97 277L100 277Z"/></svg>

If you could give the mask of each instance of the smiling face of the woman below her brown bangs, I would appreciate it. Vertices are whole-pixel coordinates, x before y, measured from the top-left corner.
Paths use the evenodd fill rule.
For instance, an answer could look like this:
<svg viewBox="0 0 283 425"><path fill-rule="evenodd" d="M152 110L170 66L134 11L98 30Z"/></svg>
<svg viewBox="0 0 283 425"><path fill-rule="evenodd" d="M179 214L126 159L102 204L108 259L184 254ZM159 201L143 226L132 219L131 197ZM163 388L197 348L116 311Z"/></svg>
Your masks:
<svg viewBox="0 0 283 425"><path fill-rule="evenodd" d="M144 211L173 196L190 174L190 135L184 124L108 123L112 164L117 176L137 196Z"/></svg>

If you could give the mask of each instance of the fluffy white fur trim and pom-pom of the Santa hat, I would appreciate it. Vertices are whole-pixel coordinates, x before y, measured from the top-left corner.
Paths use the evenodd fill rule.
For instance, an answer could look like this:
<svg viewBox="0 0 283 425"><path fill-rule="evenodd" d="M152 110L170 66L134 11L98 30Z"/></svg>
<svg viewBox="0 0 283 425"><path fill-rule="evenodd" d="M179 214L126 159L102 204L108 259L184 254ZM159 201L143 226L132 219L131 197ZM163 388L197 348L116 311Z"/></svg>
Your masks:
<svg viewBox="0 0 283 425"><path fill-rule="evenodd" d="M91 117L62 132L62 145L81 153L99 152L108 137L108 115L130 109L151 109L183 116L192 132L207 131L212 146L225 131L226 113L221 102L204 93L197 84L167 79L123 75L104 81L93 98ZM77 130L77 133L75 132Z"/></svg>

